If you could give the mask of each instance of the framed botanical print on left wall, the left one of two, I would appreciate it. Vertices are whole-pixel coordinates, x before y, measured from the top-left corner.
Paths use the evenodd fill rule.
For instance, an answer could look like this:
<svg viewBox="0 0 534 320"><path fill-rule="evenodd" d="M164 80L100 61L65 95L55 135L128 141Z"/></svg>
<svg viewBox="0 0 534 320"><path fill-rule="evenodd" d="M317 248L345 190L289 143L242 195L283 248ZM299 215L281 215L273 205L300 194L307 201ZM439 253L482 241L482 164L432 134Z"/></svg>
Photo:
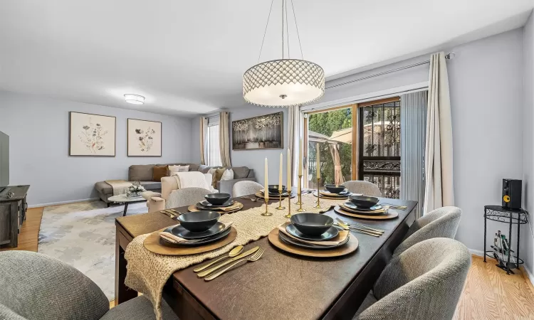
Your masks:
<svg viewBox="0 0 534 320"><path fill-rule="evenodd" d="M69 112L70 156L115 156L115 117Z"/></svg>

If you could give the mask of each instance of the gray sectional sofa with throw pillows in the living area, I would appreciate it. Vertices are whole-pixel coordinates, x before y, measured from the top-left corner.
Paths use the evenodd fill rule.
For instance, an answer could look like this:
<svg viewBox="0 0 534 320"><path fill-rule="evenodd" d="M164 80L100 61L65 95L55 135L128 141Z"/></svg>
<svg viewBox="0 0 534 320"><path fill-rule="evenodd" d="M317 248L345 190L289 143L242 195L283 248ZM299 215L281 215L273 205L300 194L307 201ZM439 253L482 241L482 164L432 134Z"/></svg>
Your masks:
<svg viewBox="0 0 534 320"><path fill-rule="evenodd" d="M211 166L204 166L199 164L135 164L130 166L128 170L128 181L140 181L141 185L145 189L161 192L162 183L161 181L152 181L152 175L155 166L167 166L167 165L180 165L180 166L189 166L189 171L201 171L203 174L207 174ZM224 180L218 181L216 189L220 193L230 193L234 184L238 181L256 181L256 176L254 176L254 170L248 169L246 166L234 166L231 167L234 170L234 180ZM98 181L95 183L95 190L98 193L98 197L102 199L105 203L108 203L110 206L110 201L108 198L113 196L113 189L105 181Z"/></svg>

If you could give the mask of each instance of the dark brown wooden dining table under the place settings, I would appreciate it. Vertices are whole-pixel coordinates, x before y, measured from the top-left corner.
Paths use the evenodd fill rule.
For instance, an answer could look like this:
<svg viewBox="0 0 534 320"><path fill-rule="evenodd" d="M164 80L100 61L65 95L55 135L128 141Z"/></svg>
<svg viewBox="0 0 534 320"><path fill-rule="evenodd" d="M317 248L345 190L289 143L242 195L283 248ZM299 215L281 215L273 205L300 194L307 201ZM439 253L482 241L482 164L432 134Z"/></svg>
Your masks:
<svg viewBox="0 0 534 320"><path fill-rule="evenodd" d="M234 200L244 204L243 210L263 204L243 198ZM245 246L245 250L265 248L258 262L237 267L209 282L193 272L197 265L179 270L167 281L163 298L182 320L352 319L415 219L415 201L380 198L380 202L407 209L395 209L399 216L392 220L350 218L333 209L324 213L385 230L378 238L352 232L359 245L349 255L327 259L303 257L279 250L267 238L261 238ZM187 212L187 207L176 210ZM137 297L137 292L125 285L127 245L138 235L174 224L176 220L160 212L115 220L115 305Z"/></svg>

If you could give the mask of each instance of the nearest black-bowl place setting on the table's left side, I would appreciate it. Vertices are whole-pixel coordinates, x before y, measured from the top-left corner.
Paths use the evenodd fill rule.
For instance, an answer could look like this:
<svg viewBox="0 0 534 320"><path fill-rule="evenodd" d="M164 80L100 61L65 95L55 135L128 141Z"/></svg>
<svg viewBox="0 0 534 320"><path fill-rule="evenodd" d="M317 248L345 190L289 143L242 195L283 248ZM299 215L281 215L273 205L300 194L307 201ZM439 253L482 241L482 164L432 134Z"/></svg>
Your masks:
<svg viewBox="0 0 534 320"><path fill-rule="evenodd" d="M196 211L177 216L178 225L151 233L143 242L159 255L193 255L224 247L237 237L231 222L219 221L221 213Z"/></svg>

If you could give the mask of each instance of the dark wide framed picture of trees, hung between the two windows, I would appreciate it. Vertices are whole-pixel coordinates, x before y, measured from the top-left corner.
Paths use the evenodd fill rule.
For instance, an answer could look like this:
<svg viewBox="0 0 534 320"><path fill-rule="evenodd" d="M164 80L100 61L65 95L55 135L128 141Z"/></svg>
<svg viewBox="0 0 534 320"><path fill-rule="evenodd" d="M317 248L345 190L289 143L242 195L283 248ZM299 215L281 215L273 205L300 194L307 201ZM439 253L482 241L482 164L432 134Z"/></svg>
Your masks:
<svg viewBox="0 0 534 320"><path fill-rule="evenodd" d="M232 121L232 150L283 149L283 112Z"/></svg>

